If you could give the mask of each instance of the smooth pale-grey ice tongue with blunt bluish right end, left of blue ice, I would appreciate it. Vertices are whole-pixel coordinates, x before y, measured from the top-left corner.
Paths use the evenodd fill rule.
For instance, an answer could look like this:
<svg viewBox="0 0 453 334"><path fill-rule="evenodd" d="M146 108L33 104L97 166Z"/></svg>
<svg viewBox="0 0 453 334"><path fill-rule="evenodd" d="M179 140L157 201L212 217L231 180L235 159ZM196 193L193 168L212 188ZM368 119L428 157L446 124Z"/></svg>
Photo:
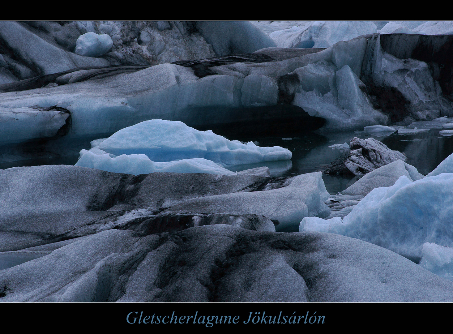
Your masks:
<svg viewBox="0 0 453 334"><path fill-rule="evenodd" d="M289 183L289 182L288 182ZM288 184L286 183L286 184ZM299 226L304 217L325 218L330 209L324 203L327 192L322 173L295 176L279 189L194 198L176 204L167 213L251 213L277 220L276 230Z"/></svg>

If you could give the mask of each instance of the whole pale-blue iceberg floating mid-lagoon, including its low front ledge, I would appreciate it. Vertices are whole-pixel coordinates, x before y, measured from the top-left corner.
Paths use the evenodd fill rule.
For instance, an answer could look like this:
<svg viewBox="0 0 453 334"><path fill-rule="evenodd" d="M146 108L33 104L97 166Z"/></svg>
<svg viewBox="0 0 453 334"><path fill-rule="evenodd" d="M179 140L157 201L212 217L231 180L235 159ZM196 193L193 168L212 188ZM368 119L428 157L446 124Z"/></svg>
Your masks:
<svg viewBox="0 0 453 334"><path fill-rule="evenodd" d="M149 120L93 140L76 166L116 173L154 172L236 174L225 167L289 160L280 146L260 147L228 140L211 130L198 131L180 121Z"/></svg>

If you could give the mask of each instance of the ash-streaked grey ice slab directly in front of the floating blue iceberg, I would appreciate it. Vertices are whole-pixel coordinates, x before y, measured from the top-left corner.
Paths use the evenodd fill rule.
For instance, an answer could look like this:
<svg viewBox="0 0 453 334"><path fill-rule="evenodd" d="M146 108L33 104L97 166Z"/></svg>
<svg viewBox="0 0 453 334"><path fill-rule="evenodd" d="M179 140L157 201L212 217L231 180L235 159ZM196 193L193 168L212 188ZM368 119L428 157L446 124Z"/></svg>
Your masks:
<svg viewBox="0 0 453 334"><path fill-rule="evenodd" d="M134 219L147 219L145 216L153 218L165 209L199 196L246 192L255 198L254 192L285 188L290 182L290 178L250 173L134 176L68 165L0 170L0 252L58 242L68 235L80 237ZM314 190L312 195L316 194ZM261 200L273 205L272 196ZM294 212L300 205L294 203ZM221 213L233 216L238 213L235 208L226 207Z"/></svg>

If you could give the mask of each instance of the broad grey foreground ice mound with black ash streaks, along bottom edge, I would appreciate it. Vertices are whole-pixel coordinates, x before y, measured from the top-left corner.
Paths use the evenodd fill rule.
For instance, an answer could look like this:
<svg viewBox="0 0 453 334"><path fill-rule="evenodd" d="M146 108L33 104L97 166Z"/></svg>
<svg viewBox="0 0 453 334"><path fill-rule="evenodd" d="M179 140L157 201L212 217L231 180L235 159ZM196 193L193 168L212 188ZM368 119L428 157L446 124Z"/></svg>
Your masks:
<svg viewBox="0 0 453 334"><path fill-rule="evenodd" d="M328 233L228 225L160 235L109 230L55 247L0 271L0 301L453 300L453 282L384 248Z"/></svg>

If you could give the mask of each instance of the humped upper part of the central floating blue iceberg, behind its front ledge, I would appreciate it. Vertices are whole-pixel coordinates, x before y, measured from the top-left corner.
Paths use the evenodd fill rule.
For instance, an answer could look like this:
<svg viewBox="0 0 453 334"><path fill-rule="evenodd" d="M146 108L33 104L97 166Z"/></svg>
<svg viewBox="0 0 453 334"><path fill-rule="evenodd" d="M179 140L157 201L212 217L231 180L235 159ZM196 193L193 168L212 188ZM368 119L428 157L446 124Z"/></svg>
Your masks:
<svg viewBox="0 0 453 334"><path fill-rule="evenodd" d="M289 160L280 146L260 147L227 140L211 130L198 131L180 121L149 120L117 131L96 146L113 155L145 154L153 161L204 158L223 166Z"/></svg>

